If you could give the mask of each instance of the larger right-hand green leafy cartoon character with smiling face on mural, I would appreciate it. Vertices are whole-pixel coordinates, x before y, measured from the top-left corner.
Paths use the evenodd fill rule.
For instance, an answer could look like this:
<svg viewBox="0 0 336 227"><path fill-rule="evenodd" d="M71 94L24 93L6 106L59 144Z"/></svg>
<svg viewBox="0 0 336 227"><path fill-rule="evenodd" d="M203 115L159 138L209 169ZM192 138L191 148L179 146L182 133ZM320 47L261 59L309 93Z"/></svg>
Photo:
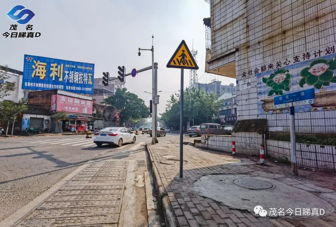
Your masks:
<svg viewBox="0 0 336 227"><path fill-rule="evenodd" d="M336 61L333 59L329 62L325 59L314 60L309 67L301 70L302 79L299 82L299 86L303 87L304 84L314 85L314 88L322 89L321 92L324 92L326 90L324 86L336 83L335 69Z"/></svg>

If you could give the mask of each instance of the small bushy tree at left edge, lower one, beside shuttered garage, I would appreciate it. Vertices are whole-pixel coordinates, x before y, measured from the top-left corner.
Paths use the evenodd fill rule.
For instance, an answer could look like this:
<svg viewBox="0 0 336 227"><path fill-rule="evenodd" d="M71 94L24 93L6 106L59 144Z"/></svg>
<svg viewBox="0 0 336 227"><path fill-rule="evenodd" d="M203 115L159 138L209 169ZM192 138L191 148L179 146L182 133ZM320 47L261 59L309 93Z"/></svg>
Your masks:
<svg viewBox="0 0 336 227"><path fill-rule="evenodd" d="M8 134L8 127L9 127L9 121L12 121L12 133L13 136L13 129L14 129L14 122L16 120L16 117L18 114L22 114L28 110L27 105L23 104L22 102L14 103L12 101L3 100L0 102L0 114L1 118L6 121L7 120L7 128L5 135Z"/></svg>

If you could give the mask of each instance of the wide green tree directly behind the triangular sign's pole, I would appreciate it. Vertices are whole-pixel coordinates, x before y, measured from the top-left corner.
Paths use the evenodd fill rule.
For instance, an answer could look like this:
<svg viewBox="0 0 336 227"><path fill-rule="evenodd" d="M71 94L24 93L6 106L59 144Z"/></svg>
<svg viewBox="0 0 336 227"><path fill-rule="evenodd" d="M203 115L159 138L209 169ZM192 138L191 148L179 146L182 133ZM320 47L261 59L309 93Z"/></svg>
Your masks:
<svg viewBox="0 0 336 227"><path fill-rule="evenodd" d="M183 122L194 121L195 125L211 122L213 115L218 114L223 100L217 100L215 92L207 93L204 89L186 89L183 91ZM180 95L172 94L168 100L166 111L161 114L166 126L179 128L180 125Z"/></svg>

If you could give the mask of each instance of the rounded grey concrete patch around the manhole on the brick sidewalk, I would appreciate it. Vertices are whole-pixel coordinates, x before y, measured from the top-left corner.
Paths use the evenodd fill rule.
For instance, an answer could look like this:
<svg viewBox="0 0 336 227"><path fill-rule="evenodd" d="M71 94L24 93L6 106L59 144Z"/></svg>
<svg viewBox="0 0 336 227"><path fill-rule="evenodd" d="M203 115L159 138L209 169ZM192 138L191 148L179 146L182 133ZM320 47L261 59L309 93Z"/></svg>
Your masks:
<svg viewBox="0 0 336 227"><path fill-rule="evenodd" d="M269 189L257 190L240 187L234 183L237 179L254 179L253 188L258 184L263 186L263 182L272 184L274 187ZM258 181L259 180L259 181ZM256 186L257 184L257 186ZM208 175L201 177L194 184L194 190L197 194L222 202L224 205L233 209L248 210L255 214L253 209L260 205L268 213L270 208L318 208L324 209L325 215L332 214L335 209L326 200L319 198L313 193L284 184L276 179L253 177L251 175ZM264 187L268 188L268 187ZM289 213L284 213L289 215ZM259 216L258 216L259 217ZM300 216L308 217L308 216ZM309 216L310 218L319 218L319 216Z"/></svg>

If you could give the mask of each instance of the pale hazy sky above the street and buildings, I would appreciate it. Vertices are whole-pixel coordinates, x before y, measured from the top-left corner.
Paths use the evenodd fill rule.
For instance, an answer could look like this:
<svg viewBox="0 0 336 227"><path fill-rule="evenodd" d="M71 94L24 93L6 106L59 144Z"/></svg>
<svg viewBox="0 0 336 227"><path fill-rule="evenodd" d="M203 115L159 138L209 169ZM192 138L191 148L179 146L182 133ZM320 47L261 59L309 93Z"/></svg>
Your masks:
<svg viewBox="0 0 336 227"><path fill-rule="evenodd" d="M198 51L199 82L219 79L223 84L235 79L207 74L205 68L205 27L203 18L210 16L210 5L204 0L57 0L57 1L1 1L0 32L9 31L17 24L7 16L15 5L31 9L35 16L29 22L35 38L5 38L1 36L0 65L23 70L24 54L45 56L95 64L94 77L102 72L117 76L118 66L126 73L152 64L151 51L138 48L152 47L154 34L154 61L158 63L158 112L165 111L166 101L180 88L180 70L166 68L175 49L185 40L189 49ZM17 31L25 31L19 25ZM184 70L184 88L189 84L189 70ZM126 77L125 87L138 95L149 106L152 92L152 72Z"/></svg>

